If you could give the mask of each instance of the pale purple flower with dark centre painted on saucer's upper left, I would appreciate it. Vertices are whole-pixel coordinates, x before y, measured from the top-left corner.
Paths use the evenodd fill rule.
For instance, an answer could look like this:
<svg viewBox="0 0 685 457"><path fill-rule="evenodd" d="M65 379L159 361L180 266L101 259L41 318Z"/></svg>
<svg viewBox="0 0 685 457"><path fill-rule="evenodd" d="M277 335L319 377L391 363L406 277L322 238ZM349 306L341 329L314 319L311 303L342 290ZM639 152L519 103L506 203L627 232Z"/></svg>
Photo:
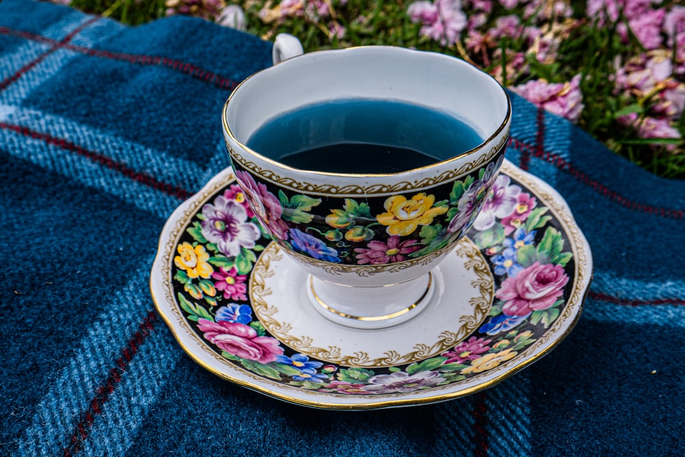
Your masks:
<svg viewBox="0 0 685 457"><path fill-rule="evenodd" d="M216 197L213 205L203 206L202 215L205 217L201 222L203 236L229 257L240 254L241 247L255 247L255 241L262 236L257 225L247 222L245 208L223 195Z"/></svg>

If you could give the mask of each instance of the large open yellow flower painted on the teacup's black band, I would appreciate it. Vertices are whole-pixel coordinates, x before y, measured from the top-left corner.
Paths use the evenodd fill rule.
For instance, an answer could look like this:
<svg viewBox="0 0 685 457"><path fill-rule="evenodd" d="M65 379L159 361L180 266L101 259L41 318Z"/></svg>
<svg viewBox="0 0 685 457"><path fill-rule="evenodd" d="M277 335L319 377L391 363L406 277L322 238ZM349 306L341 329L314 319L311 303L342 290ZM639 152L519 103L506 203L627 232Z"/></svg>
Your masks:
<svg viewBox="0 0 685 457"><path fill-rule="evenodd" d="M403 195L388 197L384 203L387 212L378 214L376 220L387 225L389 235L407 236L419 225L428 225L440 214L447 212L447 206L436 206L434 195L418 193L411 200Z"/></svg>

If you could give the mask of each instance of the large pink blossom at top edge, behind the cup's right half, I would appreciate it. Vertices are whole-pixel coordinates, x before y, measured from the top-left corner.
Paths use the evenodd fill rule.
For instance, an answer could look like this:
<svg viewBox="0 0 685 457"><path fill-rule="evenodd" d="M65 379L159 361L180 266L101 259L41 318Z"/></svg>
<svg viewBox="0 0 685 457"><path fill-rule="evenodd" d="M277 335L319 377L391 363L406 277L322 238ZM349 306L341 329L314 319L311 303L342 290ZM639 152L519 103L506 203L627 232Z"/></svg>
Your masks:
<svg viewBox="0 0 685 457"><path fill-rule="evenodd" d="M423 23L419 31L422 36L439 41L443 46L453 45L466 27L461 0L435 0L432 6L428 3L419 1L409 5L407 12L412 22Z"/></svg>

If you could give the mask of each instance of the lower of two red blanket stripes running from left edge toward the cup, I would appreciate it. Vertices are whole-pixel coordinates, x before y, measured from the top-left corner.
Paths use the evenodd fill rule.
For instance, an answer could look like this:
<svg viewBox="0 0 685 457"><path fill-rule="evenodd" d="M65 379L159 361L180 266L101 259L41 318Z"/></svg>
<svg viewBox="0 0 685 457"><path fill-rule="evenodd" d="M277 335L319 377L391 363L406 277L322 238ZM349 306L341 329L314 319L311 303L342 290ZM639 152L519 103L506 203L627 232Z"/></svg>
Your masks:
<svg viewBox="0 0 685 457"><path fill-rule="evenodd" d="M71 141L65 140L64 138L57 138L49 134L36 132L35 130L23 127L21 125L13 125L2 122L0 122L0 128L12 130L12 132L22 134L23 136L28 136L29 138L34 138L36 140L42 140L49 145L54 145L61 149L72 151L77 155L88 158L92 162L101 164L110 170L117 171L125 177L128 177L136 182L139 182L144 186L153 188L155 190L160 190L163 193L171 195L172 197L177 197L180 200L185 200L188 197L190 197L190 195L192 195L190 192L188 192L188 190L182 188L181 186L159 181L155 177L147 173L141 173L140 171L130 169L125 164L116 162L106 156L103 156L101 153L95 151L88 151L88 149L85 149L84 147L81 147L79 145L75 145L74 143L71 143Z"/></svg>

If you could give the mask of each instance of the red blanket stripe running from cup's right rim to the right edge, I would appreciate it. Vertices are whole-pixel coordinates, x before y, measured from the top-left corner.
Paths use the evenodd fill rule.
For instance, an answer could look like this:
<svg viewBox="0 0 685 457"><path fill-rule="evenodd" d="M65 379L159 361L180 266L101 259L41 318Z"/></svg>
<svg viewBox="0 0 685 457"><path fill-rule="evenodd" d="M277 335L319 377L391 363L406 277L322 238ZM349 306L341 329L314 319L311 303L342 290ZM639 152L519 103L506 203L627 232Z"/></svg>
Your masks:
<svg viewBox="0 0 685 457"><path fill-rule="evenodd" d="M594 180L582 171L576 169L570 162L562 158L556 153L545 151L545 149L538 147L538 145L530 145L522 140L516 138L509 138L509 145L515 147L516 149L521 149L521 153L532 155L536 158L540 158L553 164L558 169L566 171L569 175L575 177L578 182L585 184L593 188L599 195L606 197L612 201L620 203L621 206L628 208L629 210L634 210L638 212L645 212L647 214L654 214L660 217L666 217L669 219L683 219L685 217L685 210L671 210L668 208L659 208L656 206L647 205L645 203L638 203L623 197L623 195L617 193L615 190L611 190L601 182Z"/></svg>

